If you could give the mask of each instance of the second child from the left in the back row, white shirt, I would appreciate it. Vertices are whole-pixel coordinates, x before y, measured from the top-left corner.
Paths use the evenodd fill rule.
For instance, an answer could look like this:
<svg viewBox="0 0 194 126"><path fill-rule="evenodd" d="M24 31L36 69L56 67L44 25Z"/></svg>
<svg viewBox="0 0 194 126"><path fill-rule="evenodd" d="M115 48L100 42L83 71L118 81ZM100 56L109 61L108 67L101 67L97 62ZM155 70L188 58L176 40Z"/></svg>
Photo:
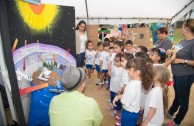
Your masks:
<svg viewBox="0 0 194 126"><path fill-rule="evenodd" d="M95 64L96 64L96 72L97 72L97 82L96 84L100 84L100 56L102 54L103 51L103 42L98 42L97 43L97 52L96 52L96 56L95 56Z"/></svg>

